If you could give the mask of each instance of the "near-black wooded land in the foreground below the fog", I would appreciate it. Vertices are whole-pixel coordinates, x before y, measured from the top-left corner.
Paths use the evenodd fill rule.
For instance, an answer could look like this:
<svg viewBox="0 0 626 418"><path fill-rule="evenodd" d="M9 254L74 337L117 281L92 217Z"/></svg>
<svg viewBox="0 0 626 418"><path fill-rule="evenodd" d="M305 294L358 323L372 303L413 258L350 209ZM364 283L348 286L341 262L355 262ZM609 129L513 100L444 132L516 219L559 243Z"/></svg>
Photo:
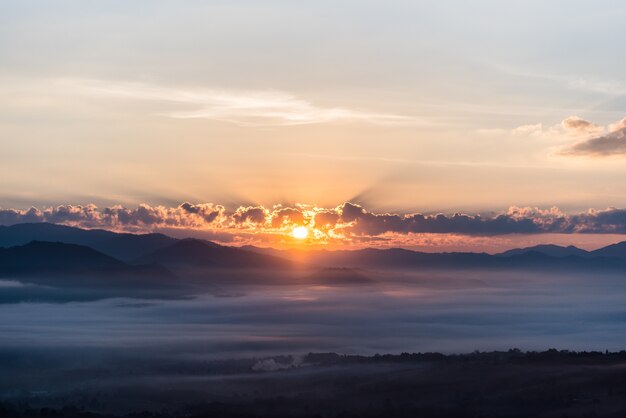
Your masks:
<svg viewBox="0 0 626 418"><path fill-rule="evenodd" d="M46 404L24 394L0 402L2 418L269 418L269 417L623 417L626 351L310 353L285 367L250 370L183 386L172 379L150 389L120 384L113 395L84 392L72 403ZM209 383L210 382L210 383ZM216 400L216 391L228 387ZM188 392L200 393L191 402ZM161 399L159 408L119 405ZM116 408L118 409L116 411Z"/></svg>

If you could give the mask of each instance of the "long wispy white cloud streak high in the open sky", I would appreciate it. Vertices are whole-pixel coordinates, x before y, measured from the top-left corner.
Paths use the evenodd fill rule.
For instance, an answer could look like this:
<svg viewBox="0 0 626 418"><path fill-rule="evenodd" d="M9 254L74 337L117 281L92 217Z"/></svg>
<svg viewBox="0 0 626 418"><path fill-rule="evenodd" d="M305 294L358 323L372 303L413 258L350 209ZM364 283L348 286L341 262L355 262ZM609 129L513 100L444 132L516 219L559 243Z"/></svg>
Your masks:
<svg viewBox="0 0 626 418"><path fill-rule="evenodd" d="M404 115L319 106L275 90L172 88L144 83L63 79L57 84L76 94L120 100L169 102L190 109L165 112L176 119L212 119L244 126L366 122L383 125L420 123Z"/></svg>

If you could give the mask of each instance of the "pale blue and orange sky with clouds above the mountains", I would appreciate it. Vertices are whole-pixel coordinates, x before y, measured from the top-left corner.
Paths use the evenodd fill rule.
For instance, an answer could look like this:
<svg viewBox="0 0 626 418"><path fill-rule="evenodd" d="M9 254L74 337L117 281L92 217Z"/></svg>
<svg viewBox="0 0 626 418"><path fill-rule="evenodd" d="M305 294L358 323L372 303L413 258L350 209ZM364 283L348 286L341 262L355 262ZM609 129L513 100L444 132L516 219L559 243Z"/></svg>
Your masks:
<svg viewBox="0 0 626 418"><path fill-rule="evenodd" d="M0 223L241 244L289 245L302 224L321 245L615 242L625 16L620 1L0 0ZM260 222L237 215L254 208ZM276 221L286 208L300 214ZM318 212L340 225L318 228ZM438 213L453 226L411 226ZM519 213L532 225L480 223Z"/></svg>

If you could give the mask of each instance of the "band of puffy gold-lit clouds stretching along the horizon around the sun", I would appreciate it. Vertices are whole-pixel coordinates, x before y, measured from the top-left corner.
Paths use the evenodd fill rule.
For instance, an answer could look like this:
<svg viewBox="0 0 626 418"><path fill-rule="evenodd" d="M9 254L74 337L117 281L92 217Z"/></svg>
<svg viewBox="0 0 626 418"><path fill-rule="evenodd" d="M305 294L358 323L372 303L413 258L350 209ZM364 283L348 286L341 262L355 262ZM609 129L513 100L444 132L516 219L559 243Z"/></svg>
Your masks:
<svg viewBox="0 0 626 418"><path fill-rule="evenodd" d="M150 232L179 228L223 235L287 236L304 225L319 241L375 240L390 234L457 234L489 237L507 234L626 234L626 209L590 209L568 214L558 208L511 207L488 216L478 214L376 213L354 204L318 208L297 204L241 206L228 210L214 203L136 208L63 205L50 208L0 209L0 225L51 222L83 228Z"/></svg>

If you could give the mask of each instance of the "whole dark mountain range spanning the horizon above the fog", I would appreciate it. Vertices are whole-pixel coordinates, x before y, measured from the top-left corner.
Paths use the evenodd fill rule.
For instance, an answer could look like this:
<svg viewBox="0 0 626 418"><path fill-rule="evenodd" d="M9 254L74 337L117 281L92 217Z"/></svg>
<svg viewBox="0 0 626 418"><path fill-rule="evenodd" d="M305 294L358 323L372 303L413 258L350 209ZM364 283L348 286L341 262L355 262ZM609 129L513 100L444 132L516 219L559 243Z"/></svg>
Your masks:
<svg viewBox="0 0 626 418"><path fill-rule="evenodd" d="M626 241L594 251L538 245L500 254L424 253L400 248L275 250L229 247L163 234L86 230L48 223L0 226L0 277L126 274L173 277L189 269L557 269L626 272ZM350 270L352 272L352 270ZM334 273L336 274L336 272ZM345 272L342 274L345 275ZM353 275L352 273L350 273Z"/></svg>

